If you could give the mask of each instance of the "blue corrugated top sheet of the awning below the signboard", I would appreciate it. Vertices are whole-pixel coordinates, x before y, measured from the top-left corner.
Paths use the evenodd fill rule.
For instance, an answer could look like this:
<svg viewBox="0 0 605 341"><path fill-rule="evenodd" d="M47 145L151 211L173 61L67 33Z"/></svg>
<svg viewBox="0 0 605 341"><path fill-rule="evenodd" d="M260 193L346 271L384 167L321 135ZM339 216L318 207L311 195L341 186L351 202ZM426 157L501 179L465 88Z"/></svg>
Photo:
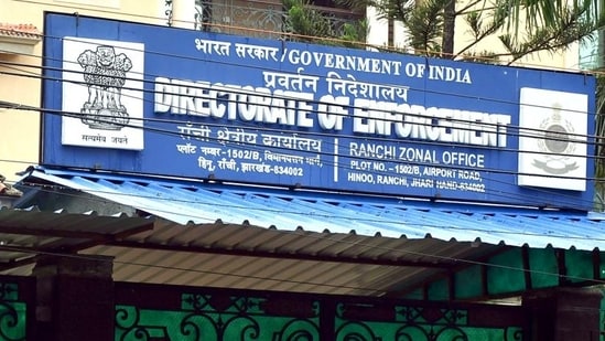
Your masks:
<svg viewBox="0 0 605 341"><path fill-rule="evenodd" d="M31 168L20 184L33 189L41 182L183 225L222 221L284 231L605 248L605 215L597 213L299 192L43 167Z"/></svg>

